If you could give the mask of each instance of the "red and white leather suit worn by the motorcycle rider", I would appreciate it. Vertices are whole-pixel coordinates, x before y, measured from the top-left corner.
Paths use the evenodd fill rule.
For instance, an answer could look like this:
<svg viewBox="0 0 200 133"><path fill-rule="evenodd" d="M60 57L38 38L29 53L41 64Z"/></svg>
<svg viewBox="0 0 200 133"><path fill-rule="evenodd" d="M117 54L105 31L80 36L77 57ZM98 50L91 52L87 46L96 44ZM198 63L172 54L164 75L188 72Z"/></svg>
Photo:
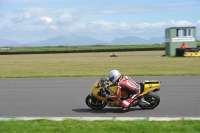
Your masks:
<svg viewBox="0 0 200 133"><path fill-rule="evenodd" d="M128 108L129 104L133 102L140 94L140 84L132 80L130 77L121 75L117 85L117 94L111 95L111 99L121 98L122 90L129 94L129 97L121 103L122 108Z"/></svg>

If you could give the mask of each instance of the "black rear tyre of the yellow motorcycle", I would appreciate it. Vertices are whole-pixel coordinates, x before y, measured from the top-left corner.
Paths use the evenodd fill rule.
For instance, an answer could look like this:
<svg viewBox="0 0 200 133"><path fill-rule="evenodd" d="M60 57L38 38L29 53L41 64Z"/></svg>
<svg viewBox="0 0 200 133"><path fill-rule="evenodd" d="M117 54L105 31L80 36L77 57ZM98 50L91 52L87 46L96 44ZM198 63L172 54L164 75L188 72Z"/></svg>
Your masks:
<svg viewBox="0 0 200 133"><path fill-rule="evenodd" d="M156 92L149 92L148 94L143 96L144 100L150 103L149 105L138 105L142 109L154 109L157 107L160 103L160 97Z"/></svg>

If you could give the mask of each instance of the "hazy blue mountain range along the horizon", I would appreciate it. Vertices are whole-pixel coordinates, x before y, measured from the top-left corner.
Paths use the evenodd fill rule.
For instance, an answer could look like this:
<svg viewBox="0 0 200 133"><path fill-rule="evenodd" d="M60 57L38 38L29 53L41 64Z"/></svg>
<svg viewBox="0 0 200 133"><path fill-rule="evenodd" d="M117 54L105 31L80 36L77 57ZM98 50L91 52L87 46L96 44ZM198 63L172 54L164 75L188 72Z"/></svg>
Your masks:
<svg viewBox="0 0 200 133"><path fill-rule="evenodd" d="M197 36L197 40L200 40L200 36ZM49 38L44 41L38 41L33 43L20 44L16 41L0 38L0 47L42 47L42 46L83 46L83 45L143 45L143 44L162 44L165 42L165 37L152 37L149 40L142 39L135 36L128 36L124 38L116 38L111 42L106 42L98 39L94 39L87 36L64 36Z"/></svg>

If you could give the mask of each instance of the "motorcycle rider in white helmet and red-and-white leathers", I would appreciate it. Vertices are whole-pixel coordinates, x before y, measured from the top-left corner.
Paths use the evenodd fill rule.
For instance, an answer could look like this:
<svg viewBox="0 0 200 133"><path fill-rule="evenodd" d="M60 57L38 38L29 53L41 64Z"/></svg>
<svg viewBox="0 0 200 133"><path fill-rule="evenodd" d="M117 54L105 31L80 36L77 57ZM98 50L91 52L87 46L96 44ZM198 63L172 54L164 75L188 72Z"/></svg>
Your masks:
<svg viewBox="0 0 200 133"><path fill-rule="evenodd" d="M127 110L129 105L139 96L140 84L132 80L130 77L124 76L118 70L110 71L108 78L113 84L117 83L117 94L109 95L108 98L121 98L122 90L124 90L128 93L129 97L122 101L121 107L123 110Z"/></svg>

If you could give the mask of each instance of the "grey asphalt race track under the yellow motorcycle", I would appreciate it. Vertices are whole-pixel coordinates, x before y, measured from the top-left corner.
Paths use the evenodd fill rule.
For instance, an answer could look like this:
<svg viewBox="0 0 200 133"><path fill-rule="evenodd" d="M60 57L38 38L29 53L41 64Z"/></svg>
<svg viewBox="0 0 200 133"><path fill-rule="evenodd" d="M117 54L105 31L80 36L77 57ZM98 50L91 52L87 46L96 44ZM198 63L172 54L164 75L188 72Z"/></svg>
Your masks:
<svg viewBox="0 0 200 133"><path fill-rule="evenodd" d="M199 117L200 76L132 77L160 80L160 105L153 110L106 107L92 110L85 97L95 78L0 79L0 117Z"/></svg>

